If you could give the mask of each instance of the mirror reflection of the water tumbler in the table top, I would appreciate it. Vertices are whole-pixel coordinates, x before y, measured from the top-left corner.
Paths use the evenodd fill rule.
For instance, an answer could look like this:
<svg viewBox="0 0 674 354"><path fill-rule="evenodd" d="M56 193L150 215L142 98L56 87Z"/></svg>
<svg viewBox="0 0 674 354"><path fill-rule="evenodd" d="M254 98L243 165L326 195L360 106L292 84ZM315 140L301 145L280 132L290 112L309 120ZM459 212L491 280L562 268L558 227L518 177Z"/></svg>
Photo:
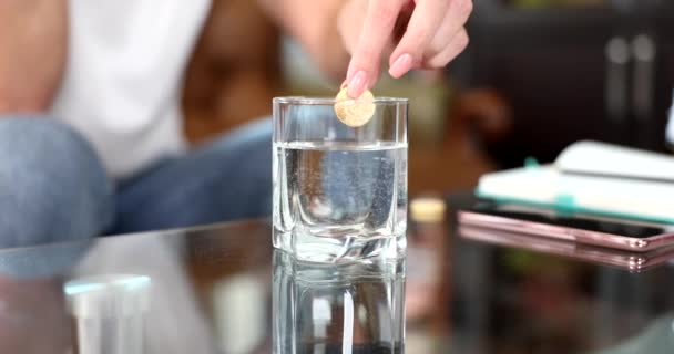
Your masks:
<svg viewBox="0 0 674 354"><path fill-rule="evenodd" d="M349 264L274 254L274 353L402 353L405 260Z"/></svg>

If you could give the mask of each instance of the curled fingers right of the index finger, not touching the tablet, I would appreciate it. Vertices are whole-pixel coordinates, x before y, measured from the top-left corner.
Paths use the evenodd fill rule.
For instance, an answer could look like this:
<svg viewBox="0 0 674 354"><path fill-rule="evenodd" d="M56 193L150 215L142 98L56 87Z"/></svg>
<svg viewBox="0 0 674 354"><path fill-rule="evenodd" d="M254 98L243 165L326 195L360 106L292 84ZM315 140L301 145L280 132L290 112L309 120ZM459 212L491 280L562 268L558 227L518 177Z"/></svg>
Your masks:
<svg viewBox="0 0 674 354"><path fill-rule="evenodd" d="M441 6L433 2L445 2L445 10L441 11ZM441 12L431 15L433 10ZM439 69L447 65L468 45L463 25L471 11L472 0L418 1L407 32L389 59L391 76L400 77L411 69ZM411 66L402 66L398 62L406 54L411 56Z"/></svg>

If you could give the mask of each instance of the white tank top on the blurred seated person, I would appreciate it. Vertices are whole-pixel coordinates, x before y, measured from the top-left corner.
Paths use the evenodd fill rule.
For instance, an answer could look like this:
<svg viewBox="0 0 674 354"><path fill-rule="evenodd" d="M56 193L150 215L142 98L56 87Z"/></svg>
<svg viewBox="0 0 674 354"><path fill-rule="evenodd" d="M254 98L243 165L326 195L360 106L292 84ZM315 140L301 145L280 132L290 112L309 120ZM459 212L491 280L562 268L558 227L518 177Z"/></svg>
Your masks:
<svg viewBox="0 0 674 354"><path fill-rule="evenodd" d="M65 73L51 114L113 177L185 149L183 74L210 0L70 0Z"/></svg>

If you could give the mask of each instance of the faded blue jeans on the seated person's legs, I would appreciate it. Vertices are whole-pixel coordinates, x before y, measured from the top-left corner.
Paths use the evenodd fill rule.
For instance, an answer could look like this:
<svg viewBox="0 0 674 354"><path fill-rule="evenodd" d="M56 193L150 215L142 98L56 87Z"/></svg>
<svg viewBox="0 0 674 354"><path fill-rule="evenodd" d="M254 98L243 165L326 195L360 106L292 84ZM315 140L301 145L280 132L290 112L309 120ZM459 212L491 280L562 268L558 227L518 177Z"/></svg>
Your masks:
<svg viewBox="0 0 674 354"><path fill-rule="evenodd" d="M269 121L115 181L69 127L1 117L0 248L265 217L270 169Z"/></svg>

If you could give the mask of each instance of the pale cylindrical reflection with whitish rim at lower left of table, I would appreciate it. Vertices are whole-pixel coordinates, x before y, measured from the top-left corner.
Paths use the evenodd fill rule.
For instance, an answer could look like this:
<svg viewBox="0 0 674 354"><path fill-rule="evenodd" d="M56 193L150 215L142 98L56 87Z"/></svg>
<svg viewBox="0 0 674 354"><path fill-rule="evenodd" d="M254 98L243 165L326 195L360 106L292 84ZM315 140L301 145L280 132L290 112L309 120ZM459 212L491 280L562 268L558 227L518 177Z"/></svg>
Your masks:
<svg viewBox="0 0 674 354"><path fill-rule="evenodd" d="M103 274L64 285L76 320L78 353L143 353L144 313L150 302L150 278Z"/></svg>

